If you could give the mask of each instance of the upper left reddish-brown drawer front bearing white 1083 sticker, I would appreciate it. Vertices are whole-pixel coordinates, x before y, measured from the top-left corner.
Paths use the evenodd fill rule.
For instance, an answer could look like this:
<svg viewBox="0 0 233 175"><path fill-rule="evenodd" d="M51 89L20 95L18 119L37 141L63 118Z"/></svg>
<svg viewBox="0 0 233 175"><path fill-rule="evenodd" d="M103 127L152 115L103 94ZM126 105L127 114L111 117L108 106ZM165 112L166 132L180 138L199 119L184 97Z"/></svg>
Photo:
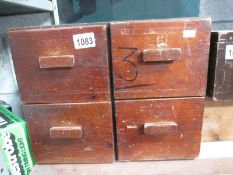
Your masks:
<svg viewBox="0 0 233 175"><path fill-rule="evenodd" d="M8 36L24 103L110 99L105 25L19 29Z"/></svg>

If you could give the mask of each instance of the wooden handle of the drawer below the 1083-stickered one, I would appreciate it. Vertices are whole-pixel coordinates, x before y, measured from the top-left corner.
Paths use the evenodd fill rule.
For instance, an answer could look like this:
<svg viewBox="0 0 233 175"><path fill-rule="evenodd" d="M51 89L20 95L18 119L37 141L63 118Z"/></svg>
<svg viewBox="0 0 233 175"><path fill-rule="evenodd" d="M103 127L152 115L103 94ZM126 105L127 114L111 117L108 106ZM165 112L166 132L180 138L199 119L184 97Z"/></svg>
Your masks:
<svg viewBox="0 0 233 175"><path fill-rule="evenodd" d="M78 138L82 137L81 126L58 126L50 128L51 138Z"/></svg>

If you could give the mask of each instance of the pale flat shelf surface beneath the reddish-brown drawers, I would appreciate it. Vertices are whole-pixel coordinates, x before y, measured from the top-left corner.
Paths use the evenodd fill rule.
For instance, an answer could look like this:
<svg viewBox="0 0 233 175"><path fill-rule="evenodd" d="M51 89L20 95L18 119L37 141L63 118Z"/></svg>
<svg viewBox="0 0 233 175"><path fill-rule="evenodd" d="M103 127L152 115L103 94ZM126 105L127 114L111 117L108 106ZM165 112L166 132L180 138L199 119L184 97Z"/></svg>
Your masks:
<svg viewBox="0 0 233 175"><path fill-rule="evenodd" d="M195 160L36 165L31 175L233 175L233 141L204 142Z"/></svg>

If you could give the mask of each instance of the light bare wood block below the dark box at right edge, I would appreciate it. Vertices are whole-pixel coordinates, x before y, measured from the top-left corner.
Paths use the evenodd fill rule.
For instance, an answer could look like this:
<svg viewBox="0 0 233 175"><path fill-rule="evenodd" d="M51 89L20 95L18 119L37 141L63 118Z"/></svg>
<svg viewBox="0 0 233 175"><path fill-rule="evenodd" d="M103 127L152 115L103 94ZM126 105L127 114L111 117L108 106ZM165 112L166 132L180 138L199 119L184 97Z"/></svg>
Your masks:
<svg viewBox="0 0 233 175"><path fill-rule="evenodd" d="M233 140L233 100L205 100L202 141Z"/></svg>

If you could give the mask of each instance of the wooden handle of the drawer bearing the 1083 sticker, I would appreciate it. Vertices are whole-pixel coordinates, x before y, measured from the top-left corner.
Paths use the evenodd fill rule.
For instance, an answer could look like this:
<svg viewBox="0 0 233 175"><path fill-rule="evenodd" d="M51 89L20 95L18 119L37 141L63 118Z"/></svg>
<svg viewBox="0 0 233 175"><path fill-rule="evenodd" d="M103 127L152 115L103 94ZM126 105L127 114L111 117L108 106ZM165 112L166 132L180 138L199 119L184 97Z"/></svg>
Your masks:
<svg viewBox="0 0 233 175"><path fill-rule="evenodd" d="M60 55L60 56L41 56L39 57L40 68L69 68L74 67L74 55Z"/></svg>

